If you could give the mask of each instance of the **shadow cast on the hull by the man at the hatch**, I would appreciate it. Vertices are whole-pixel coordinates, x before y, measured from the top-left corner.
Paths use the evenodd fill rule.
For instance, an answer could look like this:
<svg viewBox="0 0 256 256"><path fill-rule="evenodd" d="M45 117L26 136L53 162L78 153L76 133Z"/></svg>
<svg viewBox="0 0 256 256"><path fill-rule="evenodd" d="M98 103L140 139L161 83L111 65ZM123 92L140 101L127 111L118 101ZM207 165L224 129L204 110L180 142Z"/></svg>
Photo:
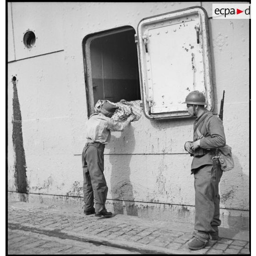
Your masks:
<svg viewBox="0 0 256 256"><path fill-rule="evenodd" d="M113 201L113 208L115 214L123 214L124 208L128 215L138 216L137 207L134 201L133 185L130 181L131 169L129 167L132 158L131 153L134 151L135 138L134 128L129 126L126 128L129 133L129 140L126 143L125 151L128 153L125 156L114 155L115 150L110 149L109 161L112 165L111 170L111 195ZM122 136L125 140L125 136ZM113 145L120 143L119 139L111 135ZM124 204L124 205L123 205Z"/></svg>

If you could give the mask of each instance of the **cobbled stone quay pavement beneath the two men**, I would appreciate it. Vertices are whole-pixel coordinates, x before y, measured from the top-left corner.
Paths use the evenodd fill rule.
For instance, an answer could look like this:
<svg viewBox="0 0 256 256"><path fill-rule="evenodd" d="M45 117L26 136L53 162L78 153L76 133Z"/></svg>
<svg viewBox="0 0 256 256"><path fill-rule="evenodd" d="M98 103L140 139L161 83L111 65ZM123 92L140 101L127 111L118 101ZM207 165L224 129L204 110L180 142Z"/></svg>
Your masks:
<svg viewBox="0 0 256 256"><path fill-rule="evenodd" d="M249 231L228 228L220 228L219 241L210 240L204 249L189 250L187 243L193 226L121 214L111 218L86 216L78 206L9 201L8 254L250 253ZM26 239L29 234L34 239L31 236ZM35 237L42 238L38 242ZM65 241L71 241L71 245ZM85 243L89 243L91 249L78 250Z"/></svg>

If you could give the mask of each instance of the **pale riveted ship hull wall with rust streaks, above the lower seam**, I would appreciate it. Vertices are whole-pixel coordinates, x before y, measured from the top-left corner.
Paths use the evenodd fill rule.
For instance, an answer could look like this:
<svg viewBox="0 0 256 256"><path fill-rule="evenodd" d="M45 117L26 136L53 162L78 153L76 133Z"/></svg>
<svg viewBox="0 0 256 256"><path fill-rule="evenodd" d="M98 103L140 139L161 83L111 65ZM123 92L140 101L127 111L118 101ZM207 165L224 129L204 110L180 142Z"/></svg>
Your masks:
<svg viewBox="0 0 256 256"><path fill-rule="evenodd" d="M29 193L83 196L81 152L88 120L83 38L126 25L136 30L145 17L190 6L204 7L209 16L216 112L226 91L223 123L235 168L223 174L221 208L249 210L249 20L212 20L210 2L8 3L9 191L19 191L18 143ZM28 29L36 35L30 50L22 42ZM14 98L21 120L13 119ZM19 142L13 139L14 121L20 124ZM109 202L194 206L192 158L184 150L192 124L142 115L124 132L113 132L104 156Z"/></svg>

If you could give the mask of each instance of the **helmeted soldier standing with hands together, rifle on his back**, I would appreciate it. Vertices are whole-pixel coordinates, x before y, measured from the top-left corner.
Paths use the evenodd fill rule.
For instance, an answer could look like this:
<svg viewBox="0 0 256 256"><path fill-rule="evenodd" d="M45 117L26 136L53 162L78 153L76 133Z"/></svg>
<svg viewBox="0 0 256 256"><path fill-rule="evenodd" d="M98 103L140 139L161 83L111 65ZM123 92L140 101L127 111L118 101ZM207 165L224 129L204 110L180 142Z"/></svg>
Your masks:
<svg viewBox="0 0 256 256"><path fill-rule="evenodd" d="M220 197L218 184L222 170L216 156L216 149L226 145L222 120L205 109L206 98L199 91L192 91L185 102L194 122L193 141L187 141L185 150L193 157L191 174L195 186L195 232L188 247L199 250L209 239L218 239L220 226Z"/></svg>

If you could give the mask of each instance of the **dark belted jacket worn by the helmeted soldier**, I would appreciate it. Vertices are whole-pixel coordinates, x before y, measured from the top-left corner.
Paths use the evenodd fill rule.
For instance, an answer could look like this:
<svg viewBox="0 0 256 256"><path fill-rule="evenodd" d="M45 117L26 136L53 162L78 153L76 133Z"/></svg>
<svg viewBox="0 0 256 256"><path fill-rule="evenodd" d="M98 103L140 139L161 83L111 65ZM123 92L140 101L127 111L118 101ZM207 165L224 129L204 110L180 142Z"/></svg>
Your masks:
<svg viewBox="0 0 256 256"><path fill-rule="evenodd" d="M199 139L195 126L201 117L194 122L194 141ZM222 149L226 145L223 122L216 115L208 113L206 119L200 123L198 128L204 138L200 139L200 148L195 150L191 170L207 164L213 165L212 157L215 156L215 150L217 148Z"/></svg>

